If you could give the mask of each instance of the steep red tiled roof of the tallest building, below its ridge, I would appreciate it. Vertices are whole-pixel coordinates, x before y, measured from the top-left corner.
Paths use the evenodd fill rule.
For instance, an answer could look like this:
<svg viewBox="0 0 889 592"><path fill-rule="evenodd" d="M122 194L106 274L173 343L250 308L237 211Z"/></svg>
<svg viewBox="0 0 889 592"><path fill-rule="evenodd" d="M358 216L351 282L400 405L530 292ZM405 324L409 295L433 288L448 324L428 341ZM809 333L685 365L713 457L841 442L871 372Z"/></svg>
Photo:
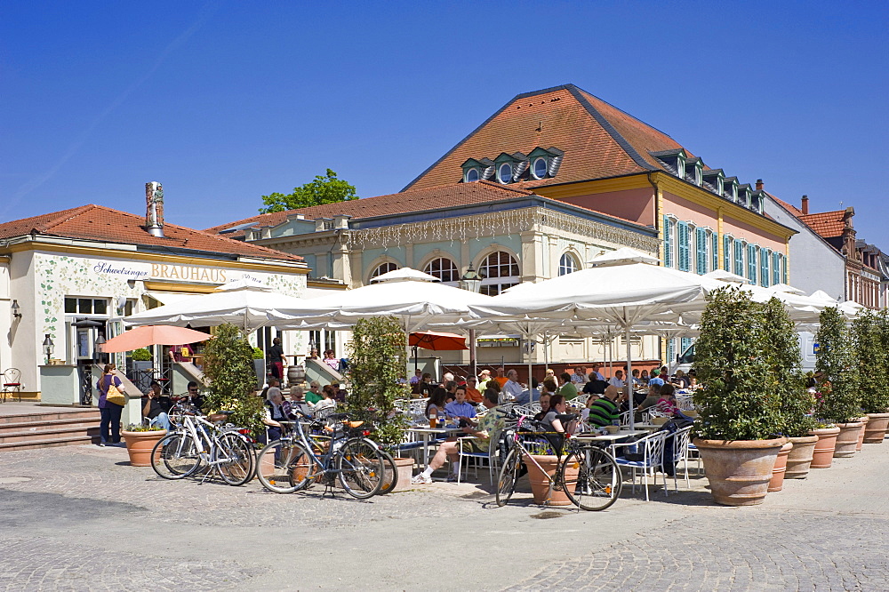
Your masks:
<svg viewBox="0 0 889 592"><path fill-rule="evenodd" d="M603 179L664 170L649 152L682 148L664 132L639 121L604 100L565 84L518 95L461 140L407 188L461 180L469 158L496 158L501 153L559 148L565 156L554 178L521 181L534 188L554 183ZM691 155L687 150L686 155Z"/></svg>

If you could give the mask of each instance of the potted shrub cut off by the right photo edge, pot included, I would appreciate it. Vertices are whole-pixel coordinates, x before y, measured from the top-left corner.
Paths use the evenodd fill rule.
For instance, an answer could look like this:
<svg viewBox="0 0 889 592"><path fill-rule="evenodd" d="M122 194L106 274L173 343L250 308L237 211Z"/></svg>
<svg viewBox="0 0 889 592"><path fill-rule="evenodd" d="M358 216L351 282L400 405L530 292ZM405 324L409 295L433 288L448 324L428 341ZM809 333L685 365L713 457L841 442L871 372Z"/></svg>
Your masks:
<svg viewBox="0 0 889 592"><path fill-rule="evenodd" d="M886 351L889 343L884 343L887 328L889 318L885 309L877 315L864 308L852 323L858 392L861 407L868 417L864 442L868 444L881 444L889 426L889 384L886 383L889 379L889 352Z"/></svg>

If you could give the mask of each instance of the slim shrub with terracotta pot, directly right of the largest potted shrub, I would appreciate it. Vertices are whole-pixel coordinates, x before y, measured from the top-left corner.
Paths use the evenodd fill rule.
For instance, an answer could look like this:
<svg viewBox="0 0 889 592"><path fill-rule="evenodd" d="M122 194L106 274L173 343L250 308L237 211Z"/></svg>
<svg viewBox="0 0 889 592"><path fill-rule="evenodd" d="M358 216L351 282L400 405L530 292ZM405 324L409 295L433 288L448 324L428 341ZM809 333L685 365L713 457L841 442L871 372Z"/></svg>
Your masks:
<svg viewBox="0 0 889 592"><path fill-rule="evenodd" d="M763 356L770 367L766 383L777 398L780 433L789 439L781 447L772 469L770 492L780 492L784 479L802 479L808 475L816 436L812 411L815 399L805 386L801 369L799 338L783 303L771 299L763 305Z"/></svg>

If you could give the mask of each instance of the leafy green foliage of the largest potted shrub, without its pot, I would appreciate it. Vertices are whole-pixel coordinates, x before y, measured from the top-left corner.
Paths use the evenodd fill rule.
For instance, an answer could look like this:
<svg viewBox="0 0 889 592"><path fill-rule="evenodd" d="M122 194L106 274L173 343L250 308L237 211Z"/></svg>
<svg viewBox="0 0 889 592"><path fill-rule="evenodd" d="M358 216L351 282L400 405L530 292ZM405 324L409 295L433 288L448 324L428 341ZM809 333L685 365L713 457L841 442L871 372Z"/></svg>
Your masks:
<svg viewBox="0 0 889 592"><path fill-rule="evenodd" d="M701 388L698 436L717 440L762 440L781 432L781 412L772 384L773 368L763 355L763 307L747 292L726 287L711 292L695 342ZM796 346L794 346L796 347Z"/></svg>

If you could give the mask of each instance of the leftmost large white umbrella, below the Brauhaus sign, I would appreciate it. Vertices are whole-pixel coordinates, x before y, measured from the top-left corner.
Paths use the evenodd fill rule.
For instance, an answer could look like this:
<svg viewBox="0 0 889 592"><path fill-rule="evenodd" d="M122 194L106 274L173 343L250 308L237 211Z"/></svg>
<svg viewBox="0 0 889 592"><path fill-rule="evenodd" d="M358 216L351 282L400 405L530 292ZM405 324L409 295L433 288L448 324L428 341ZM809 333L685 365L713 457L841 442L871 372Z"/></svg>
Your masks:
<svg viewBox="0 0 889 592"><path fill-rule="evenodd" d="M305 300L272 292L268 286L225 284L216 292L204 296L126 316L124 324L172 324L184 327L187 324L215 326L230 323L249 333L268 326L270 313L281 308L302 306L304 303ZM315 319L315 322L319 320Z"/></svg>

